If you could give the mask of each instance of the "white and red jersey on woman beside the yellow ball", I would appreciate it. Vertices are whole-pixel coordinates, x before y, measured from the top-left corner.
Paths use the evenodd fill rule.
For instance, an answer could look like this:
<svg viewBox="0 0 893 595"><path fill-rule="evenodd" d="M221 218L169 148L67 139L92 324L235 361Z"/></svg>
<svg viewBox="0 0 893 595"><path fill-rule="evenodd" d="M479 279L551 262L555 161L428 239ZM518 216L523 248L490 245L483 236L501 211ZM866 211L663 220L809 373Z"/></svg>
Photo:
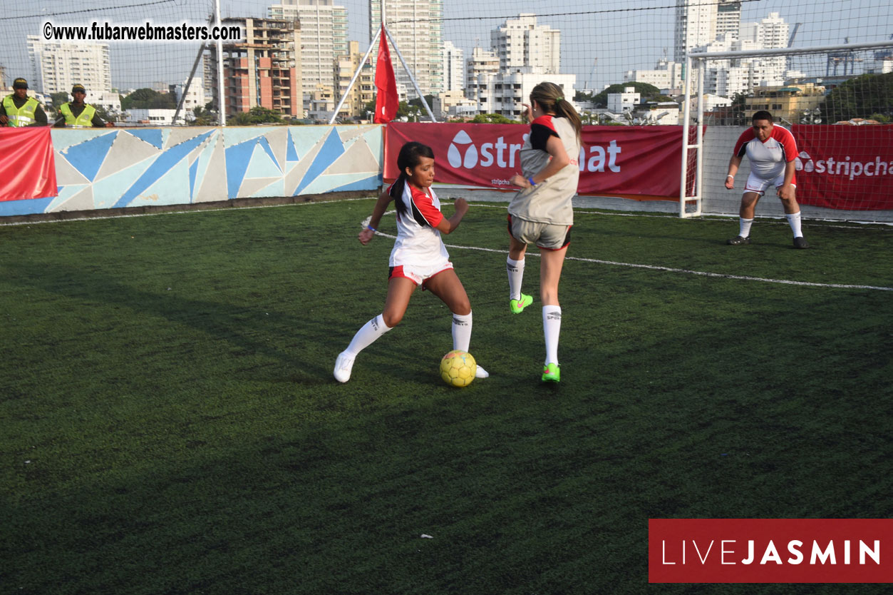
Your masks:
<svg viewBox="0 0 893 595"><path fill-rule="evenodd" d="M388 266L448 261L447 247L435 229L444 215L440 213L440 201L434 190L426 192L407 181L403 196L397 200L402 200L406 209L404 215L399 212L396 215L396 241Z"/></svg>

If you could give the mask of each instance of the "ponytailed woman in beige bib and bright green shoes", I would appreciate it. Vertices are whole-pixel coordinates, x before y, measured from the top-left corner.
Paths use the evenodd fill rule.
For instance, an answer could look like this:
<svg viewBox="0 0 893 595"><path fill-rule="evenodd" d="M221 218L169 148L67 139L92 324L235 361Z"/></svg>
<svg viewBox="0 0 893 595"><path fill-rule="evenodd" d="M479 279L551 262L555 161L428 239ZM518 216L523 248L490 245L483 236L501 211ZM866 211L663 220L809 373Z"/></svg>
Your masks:
<svg viewBox="0 0 893 595"><path fill-rule="evenodd" d="M543 302L543 334L546 362L542 380L561 381L558 367L558 335L561 306L558 281L564 255L571 243L573 209L571 199L580 180L580 116L563 97L560 87L538 84L530 92L530 105L523 104L530 122L530 136L521 149L522 175L512 184L521 187L508 205L509 306L514 314L530 306L533 298L521 292L524 253L528 244L539 247L539 297Z"/></svg>

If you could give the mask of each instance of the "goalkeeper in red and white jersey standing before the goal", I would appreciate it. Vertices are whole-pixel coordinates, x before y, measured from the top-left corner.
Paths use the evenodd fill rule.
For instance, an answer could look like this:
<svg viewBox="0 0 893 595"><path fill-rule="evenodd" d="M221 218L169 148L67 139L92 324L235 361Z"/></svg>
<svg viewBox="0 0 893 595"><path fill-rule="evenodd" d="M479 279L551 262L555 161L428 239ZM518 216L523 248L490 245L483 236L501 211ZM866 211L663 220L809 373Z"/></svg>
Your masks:
<svg viewBox="0 0 893 595"><path fill-rule="evenodd" d="M750 243L750 226L754 222L756 203L767 188L775 187L790 229L794 231L794 247L807 248L809 244L800 230L800 205L797 205L794 177L794 160L797 159L797 143L790 130L776 126L772 114L760 111L754 114L753 126L741 133L735 143L735 152L729 160L729 175L726 176L727 189L735 188L735 172L738 172L741 159L747 155L750 162L750 175L741 197L739 234L726 243L740 246Z"/></svg>

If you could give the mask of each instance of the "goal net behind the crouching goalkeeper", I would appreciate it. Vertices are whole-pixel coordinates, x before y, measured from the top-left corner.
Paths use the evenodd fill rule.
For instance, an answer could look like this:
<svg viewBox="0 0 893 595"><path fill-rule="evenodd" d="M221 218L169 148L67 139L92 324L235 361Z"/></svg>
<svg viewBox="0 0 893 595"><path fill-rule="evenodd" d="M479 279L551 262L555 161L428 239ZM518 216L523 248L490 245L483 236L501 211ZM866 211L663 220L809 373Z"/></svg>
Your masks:
<svg viewBox="0 0 893 595"><path fill-rule="evenodd" d="M705 127L697 151L701 211L737 212L747 159L735 190L724 188L724 177L739 135L759 111L797 141L797 202L807 214L871 219L865 212L893 209L893 42L690 57L689 123ZM773 194L758 212L782 213Z"/></svg>

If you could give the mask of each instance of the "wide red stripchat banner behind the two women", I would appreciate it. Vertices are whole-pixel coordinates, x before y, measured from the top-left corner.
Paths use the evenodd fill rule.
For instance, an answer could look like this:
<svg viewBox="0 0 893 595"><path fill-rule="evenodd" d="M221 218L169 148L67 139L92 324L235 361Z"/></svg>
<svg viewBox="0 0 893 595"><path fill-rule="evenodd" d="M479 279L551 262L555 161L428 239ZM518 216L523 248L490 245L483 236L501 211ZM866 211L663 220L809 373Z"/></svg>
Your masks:
<svg viewBox="0 0 893 595"><path fill-rule="evenodd" d="M434 150L440 183L517 190L508 180L522 172L519 154L529 133L520 124L391 122L384 178L396 179L396 155L415 140ZM679 199L680 126L585 126L581 136L580 155L569 155L580 167L580 194Z"/></svg>

